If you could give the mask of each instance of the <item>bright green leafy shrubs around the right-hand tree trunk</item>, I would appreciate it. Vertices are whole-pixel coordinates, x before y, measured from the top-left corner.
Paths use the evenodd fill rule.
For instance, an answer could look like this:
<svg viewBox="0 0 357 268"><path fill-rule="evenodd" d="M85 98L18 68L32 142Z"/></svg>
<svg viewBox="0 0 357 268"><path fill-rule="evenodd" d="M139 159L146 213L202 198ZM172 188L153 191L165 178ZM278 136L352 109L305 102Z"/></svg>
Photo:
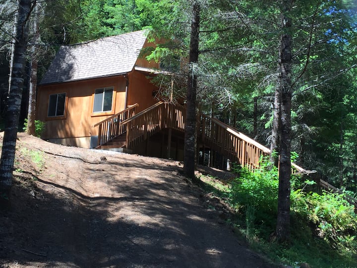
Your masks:
<svg viewBox="0 0 357 268"><path fill-rule="evenodd" d="M250 225L259 229L258 233L268 234L274 231L278 211L277 168L271 167L267 160L263 159L260 169L250 172L242 168L238 170L238 175L239 177L232 182L232 191L229 195L231 204L249 218ZM314 233L323 238L332 247L355 251L357 248L355 207L338 193L325 191L321 194L306 193L307 186L314 183L308 180L301 181L299 176L292 176L291 217L293 222L305 225L296 226L299 230L294 232L300 232L310 226L312 228L310 234ZM253 218L248 215L251 211L254 211Z"/></svg>

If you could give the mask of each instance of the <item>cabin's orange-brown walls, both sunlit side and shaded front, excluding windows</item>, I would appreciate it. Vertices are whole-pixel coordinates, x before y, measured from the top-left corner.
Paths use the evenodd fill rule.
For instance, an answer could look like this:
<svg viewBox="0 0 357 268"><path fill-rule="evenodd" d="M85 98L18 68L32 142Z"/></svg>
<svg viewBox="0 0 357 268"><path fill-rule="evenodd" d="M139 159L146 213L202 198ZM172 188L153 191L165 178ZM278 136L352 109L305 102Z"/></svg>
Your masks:
<svg viewBox="0 0 357 268"><path fill-rule="evenodd" d="M125 76L40 85L37 95L36 119L46 122L46 130L42 137L50 139L98 135L98 127L93 128L93 125L124 109L127 81L126 105L138 103L139 107L136 112L139 112L157 103L158 100L152 96L152 92L157 88L149 81L147 75L148 73L132 71ZM114 88L114 106L110 113L93 114L94 91L96 88L102 87ZM47 117L49 96L56 93L66 93L65 118Z"/></svg>

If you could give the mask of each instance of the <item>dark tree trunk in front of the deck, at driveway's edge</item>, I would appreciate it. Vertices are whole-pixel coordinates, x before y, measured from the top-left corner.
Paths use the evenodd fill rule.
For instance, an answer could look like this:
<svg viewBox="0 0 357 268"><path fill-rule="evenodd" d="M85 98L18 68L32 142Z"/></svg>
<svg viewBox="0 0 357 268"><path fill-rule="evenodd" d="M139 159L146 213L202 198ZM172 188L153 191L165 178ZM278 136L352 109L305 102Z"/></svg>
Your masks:
<svg viewBox="0 0 357 268"><path fill-rule="evenodd" d="M198 63L198 42L199 42L200 5L197 1L193 3L191 20L191 38L189 63L190 71L187 80L187 102L186 102L186 122L184 138L183 169L187 177L195 179L195 152L196 152L196 89L197 76L195 67Z"/></svg>

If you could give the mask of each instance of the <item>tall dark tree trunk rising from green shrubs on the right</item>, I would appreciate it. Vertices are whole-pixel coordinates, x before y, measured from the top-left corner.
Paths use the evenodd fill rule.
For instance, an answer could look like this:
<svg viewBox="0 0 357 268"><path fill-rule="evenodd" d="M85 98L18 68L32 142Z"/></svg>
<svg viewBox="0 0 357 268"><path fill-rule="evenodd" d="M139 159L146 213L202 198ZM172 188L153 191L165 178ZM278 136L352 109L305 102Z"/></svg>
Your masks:
<svg viewBox="0 0 357 268"><path fill-rule="evenodd" d="M291 179L291 101L292 101L292 44L290 34L284 29L291 27L290 19L285 12L290 9L290 1L283 0L282 26L283 34L279 47L280 72L280 159L279 159L279 191L278 217L276 235L278 241L288 242L290 237L290 179ZM285 31L286 32L286 31Z"/></svg>

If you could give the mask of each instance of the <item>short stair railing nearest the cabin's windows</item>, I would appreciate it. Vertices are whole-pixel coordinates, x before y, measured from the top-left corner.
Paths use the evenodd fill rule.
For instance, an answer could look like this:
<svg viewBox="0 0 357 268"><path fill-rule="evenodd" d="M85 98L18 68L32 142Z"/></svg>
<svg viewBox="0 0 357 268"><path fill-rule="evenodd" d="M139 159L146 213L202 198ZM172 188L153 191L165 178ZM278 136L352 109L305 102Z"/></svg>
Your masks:
<svg viewBox="0 0 357 268"><path fill-rule="evenodd" d="M126 131L126 126L120 123L134 116L135 108L137 106L139 106L137 103L131 105L125 110L120 111L118 114L95 124L93 128L99 126L97 145L103 145L109 140L123 134Z"/></svg>

